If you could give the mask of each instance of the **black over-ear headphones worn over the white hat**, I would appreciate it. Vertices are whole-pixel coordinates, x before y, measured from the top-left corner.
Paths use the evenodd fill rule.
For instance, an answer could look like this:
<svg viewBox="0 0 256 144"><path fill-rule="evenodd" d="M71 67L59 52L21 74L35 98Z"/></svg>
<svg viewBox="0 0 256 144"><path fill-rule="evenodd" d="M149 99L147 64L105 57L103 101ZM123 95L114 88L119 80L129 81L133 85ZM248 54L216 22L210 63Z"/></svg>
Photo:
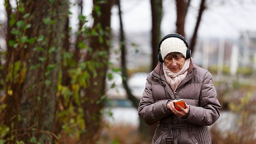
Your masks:
<svg viewBox="0 0 256 144"><path fill-rule="evenodd" d="M189 59L189 58L191 57L191 50L189 49L189 44L186 42L185 38L182 37L182 36L179 35L179 34L171 33L171 34L169 34L169 35L164 36L164 37L162 38L162 40L159 42L159 45L158 45L158 47L157 47L157 57L158 57L159 62L164 62L164 60L163 60L163 58L162 58L162 55L161 55L161 52L160 52L160 45L162 44L162 42L163 42L165 39L167 39L167 38L169 38L169 37L177 37L177 38L181 39L181 40L185 43L185 45L186 45L186 47L187 47L187 49L186 49L186 59Z"/></svg>

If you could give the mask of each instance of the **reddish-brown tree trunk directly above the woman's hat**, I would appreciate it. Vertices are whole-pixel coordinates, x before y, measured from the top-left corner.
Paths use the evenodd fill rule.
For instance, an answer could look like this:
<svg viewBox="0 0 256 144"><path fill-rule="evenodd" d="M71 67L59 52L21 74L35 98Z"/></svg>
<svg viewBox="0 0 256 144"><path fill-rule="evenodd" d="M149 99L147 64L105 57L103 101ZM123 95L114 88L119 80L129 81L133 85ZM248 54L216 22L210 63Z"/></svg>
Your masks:
<svg viewBox="0 0 256 144"><path fill-rule="evenodd" d="M176 33L185 37L186 2L184 0L176 0L176 8Z"/></svg>

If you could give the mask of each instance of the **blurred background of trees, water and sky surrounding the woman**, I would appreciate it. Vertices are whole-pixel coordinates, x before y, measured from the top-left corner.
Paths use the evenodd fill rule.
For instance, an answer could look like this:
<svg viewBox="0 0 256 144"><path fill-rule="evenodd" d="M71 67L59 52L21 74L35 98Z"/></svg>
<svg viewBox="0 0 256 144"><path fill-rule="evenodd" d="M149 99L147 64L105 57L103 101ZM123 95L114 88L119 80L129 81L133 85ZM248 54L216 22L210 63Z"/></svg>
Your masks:
<svg viewBox="0 0 256 144"><path fill-rule="evenodd" d="M213 76L213 144L256 144L255 0L1 0L0 144L150 144L139 118L164 35Z"/></svg>

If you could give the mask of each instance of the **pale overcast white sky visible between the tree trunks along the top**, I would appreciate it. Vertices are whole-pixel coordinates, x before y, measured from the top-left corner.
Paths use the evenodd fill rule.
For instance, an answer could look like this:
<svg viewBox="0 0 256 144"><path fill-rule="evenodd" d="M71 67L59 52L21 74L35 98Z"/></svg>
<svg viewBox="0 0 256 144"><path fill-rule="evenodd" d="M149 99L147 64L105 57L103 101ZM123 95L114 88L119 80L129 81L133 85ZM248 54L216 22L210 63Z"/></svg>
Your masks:
<svg viewBox="0 0 256 144"><path fill-rule="evenodd" d="M15 2L15 0L12 0ZM74 3L76 0L72 0ZM194 31L201 0L191 0L191 8L186 16L185 32L191 36ZM206 0L208 8L204 11L199 27L201 37L239 37L245 30L256 31L256 0ZM224 2L222 2L224 1ZM245 1L245 2L243 2ZM4 0L0 0L0 20L5 18ZM123 24L126 32L147 32L151 30L150 0L121 0ZM176 6L174 0L163 0L164 15L162 32L166 35L175 32ZM89 16L92 0L84 0L84 15ZM72 26L77 23L77 7L71 5ZM113 30L119 30L118 9L112 8Z"/></svg>

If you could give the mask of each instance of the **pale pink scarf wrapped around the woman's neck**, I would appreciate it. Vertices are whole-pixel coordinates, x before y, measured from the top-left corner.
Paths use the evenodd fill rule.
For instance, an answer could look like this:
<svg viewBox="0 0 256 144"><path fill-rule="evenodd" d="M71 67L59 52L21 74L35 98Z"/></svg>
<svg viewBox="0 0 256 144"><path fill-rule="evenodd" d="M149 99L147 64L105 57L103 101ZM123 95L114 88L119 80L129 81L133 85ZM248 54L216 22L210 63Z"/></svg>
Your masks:
<svg viewBox="0 0 256 144"><path fill-rule="evenodd" d="M164 76L167 80L167 82L171 85L171 88L173 91L175 91L178 87L178 85L182 82L183 79L185 79L188 69L189 69L189 63L190 59L185 60L183 67L179 72L171 72L165 65L163 64L163 70L164 70Z"/></svg>

